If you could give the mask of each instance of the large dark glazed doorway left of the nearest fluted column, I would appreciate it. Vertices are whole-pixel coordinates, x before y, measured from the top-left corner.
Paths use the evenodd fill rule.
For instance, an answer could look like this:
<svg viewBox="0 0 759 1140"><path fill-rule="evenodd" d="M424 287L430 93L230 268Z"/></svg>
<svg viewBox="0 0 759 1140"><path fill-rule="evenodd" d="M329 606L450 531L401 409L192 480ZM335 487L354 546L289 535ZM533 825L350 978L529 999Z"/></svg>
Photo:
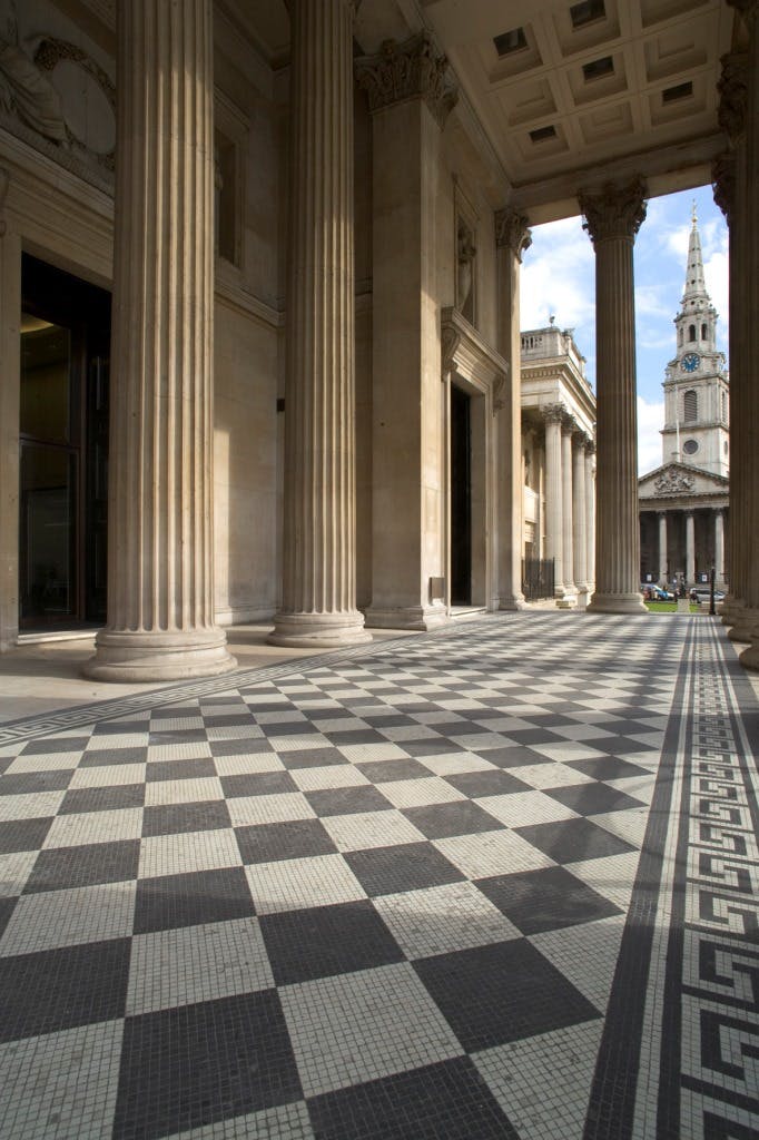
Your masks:
<svg viewBox="0 0 759 1140"><path fill-rule="evenodd" d="M19 628L106 614L111 294L22 264Z"/></svg>

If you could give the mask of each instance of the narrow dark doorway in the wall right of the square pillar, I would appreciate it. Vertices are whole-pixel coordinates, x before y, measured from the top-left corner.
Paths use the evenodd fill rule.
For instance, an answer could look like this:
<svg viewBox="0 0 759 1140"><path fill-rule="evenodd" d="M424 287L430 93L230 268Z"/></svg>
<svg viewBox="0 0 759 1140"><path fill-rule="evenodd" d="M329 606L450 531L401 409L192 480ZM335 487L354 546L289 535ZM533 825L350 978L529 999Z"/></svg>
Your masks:
<svg viewBox="0 0 759 1140"><path fill-rule="evenodd" d="M450 389L450 602L472 604L471 400Z"/></svg>

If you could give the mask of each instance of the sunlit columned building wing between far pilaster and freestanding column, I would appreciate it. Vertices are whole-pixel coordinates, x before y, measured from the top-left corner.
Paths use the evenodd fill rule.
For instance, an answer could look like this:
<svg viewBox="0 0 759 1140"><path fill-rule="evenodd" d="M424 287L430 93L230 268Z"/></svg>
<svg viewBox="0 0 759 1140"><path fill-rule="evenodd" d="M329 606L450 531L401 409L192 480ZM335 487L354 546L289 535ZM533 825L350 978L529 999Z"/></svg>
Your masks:
<svg viewBox="0 0 759 1140"><path fill-rule="evenodd" d="M557 604L594 585L596 398L572 329L522 333L522 557L554 560Z"/></svg>

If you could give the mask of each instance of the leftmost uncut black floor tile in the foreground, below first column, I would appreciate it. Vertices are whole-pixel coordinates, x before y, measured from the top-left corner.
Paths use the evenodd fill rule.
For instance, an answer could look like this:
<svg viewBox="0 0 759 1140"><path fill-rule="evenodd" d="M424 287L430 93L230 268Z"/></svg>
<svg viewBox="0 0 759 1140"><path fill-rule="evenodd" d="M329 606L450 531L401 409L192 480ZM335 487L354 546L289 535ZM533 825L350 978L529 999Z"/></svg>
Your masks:
<svg viewBox="0 0 759 1140"><path fill-rule="evenodd" d="M139 839L80 847L49 847L40 852L24 887L24 894L40 890L72 890L100 882L131 882L137 878Z"/></svg>

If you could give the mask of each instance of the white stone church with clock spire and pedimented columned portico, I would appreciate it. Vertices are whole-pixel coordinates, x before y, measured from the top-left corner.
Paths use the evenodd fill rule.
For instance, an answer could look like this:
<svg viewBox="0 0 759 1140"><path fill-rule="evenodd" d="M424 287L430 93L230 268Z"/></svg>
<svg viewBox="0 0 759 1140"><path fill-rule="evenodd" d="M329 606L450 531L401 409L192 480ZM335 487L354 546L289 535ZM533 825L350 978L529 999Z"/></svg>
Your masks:
<svg viewBox="0 0 759 1140"><path fill-rule="evenodd" d="M712 567L717 584L727 581L729 388L717 316L694 211L677 350L663 383L662 464L638 480L643 583L691 586L707 581Z"/></svg>

